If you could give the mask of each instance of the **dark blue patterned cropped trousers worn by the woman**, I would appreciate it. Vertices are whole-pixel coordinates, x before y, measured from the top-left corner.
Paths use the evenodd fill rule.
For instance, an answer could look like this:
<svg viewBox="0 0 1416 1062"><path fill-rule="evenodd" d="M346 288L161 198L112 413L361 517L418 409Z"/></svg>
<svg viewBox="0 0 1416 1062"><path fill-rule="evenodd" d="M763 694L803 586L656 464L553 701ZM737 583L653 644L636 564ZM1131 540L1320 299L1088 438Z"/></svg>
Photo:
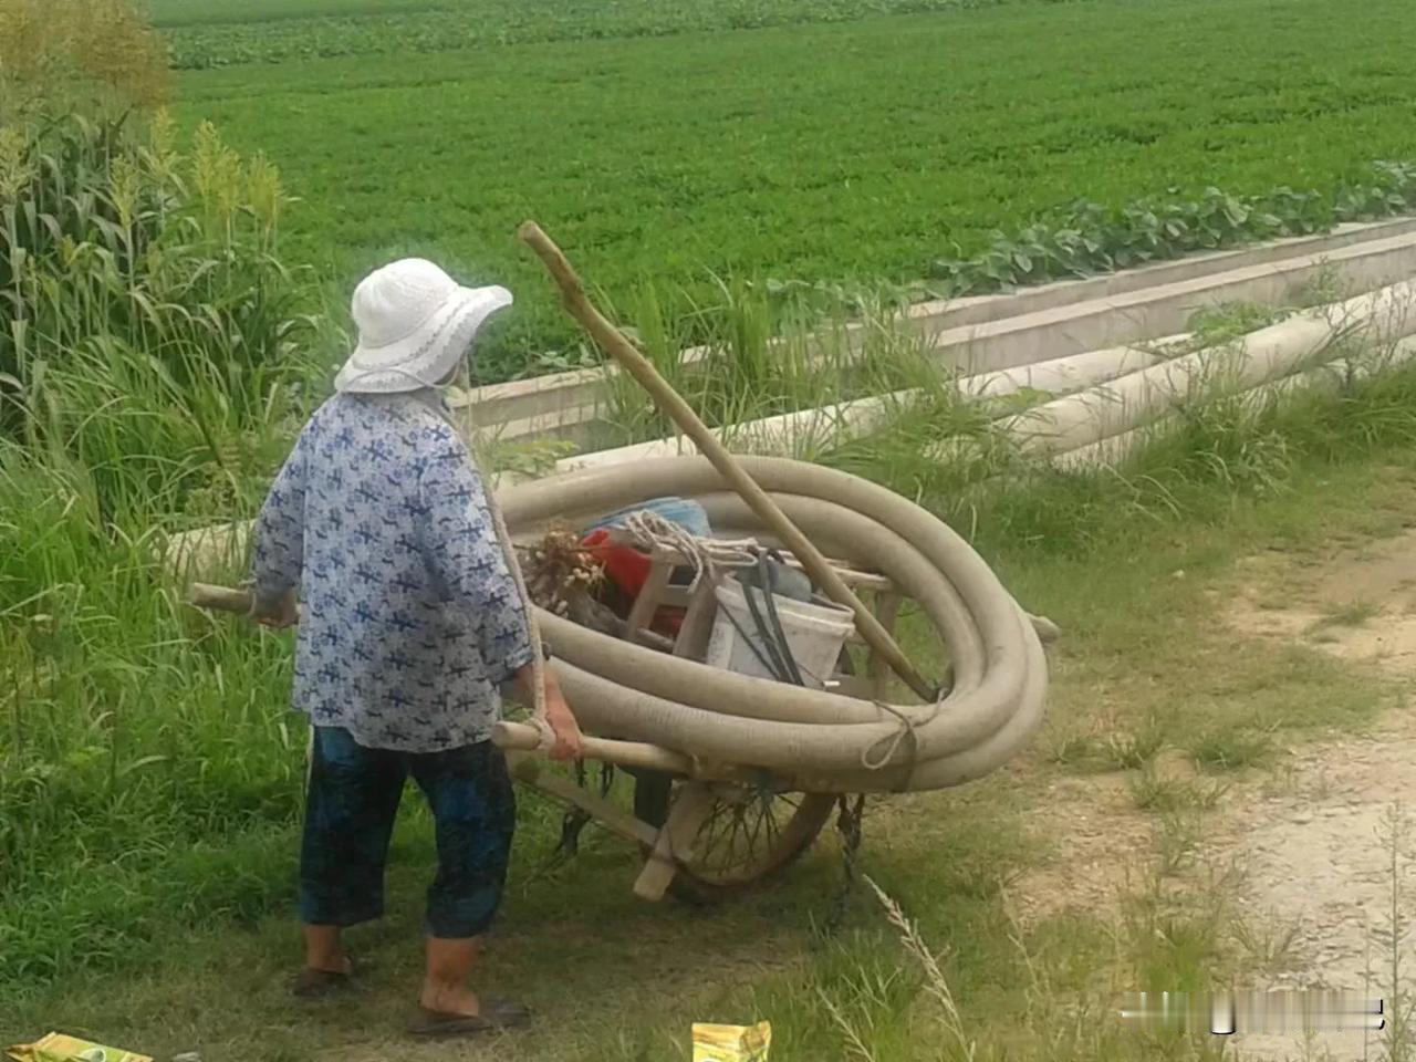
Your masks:
<svg viewBox="0 0 1416 1062"><path fill-rule="evenodd" d="M353 926L384 913L384 864L404 783L428 797L438 877L428 889L429 936L480 936L501 903L515 831L506 759L491 742L430 753L367 749L319 726L300 844L300 919Z"/></svg>

